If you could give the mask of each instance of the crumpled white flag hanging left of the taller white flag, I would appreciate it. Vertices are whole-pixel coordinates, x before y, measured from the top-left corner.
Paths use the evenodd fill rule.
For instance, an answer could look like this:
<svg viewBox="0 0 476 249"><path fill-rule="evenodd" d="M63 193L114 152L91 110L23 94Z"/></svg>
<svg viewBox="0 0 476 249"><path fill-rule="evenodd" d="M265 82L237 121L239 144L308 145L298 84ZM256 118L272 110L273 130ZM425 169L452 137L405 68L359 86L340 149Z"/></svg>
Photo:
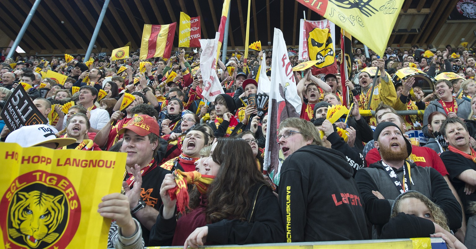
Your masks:
<svg viewBox="0 0 476 249"><path fill-rule="evenodd" d="M200 39L202 54L200 68L203 79L202 95L207 101L215 101L217 95L225 93L221 88L217 75L217 50L220 33L215 34L215 39Z"/></svg>

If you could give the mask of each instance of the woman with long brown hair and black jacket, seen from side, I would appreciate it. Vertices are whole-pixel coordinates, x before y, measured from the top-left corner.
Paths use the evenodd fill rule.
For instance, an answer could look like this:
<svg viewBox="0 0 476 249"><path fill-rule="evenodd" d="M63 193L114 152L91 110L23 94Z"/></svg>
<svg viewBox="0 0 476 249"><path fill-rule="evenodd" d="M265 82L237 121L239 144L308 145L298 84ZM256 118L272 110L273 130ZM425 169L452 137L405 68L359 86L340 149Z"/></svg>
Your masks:
<svg viewBox="0 0 476 249"><path fill-rule="evenodd" d="M212 146L205 167L218 170L205 194L189 190L190 205L176 217L176 200L169 189L176 187L172 174L160 188L163 206L151 229L150 246L198 247L204 244L276 243L285 238L278 199L263 179L248 143L224 138ZM214 173L211 173L214 174Z"/></svg>

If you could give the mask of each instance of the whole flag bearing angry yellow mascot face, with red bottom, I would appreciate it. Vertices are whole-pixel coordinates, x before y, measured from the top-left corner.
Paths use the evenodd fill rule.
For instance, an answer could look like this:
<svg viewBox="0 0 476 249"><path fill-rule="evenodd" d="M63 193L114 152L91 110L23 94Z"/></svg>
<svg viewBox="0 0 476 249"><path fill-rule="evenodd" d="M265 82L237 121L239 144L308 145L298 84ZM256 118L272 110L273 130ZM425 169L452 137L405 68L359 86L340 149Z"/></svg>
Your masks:
<svg viewBox="0 0 476 249"><path fill-rule="evenodd" d="M337 73L336 57L329 22L325 29L319 29L312 22L304 22L307 37L307 51L309 60L317 63L312 68L312 74Z"/></svg>

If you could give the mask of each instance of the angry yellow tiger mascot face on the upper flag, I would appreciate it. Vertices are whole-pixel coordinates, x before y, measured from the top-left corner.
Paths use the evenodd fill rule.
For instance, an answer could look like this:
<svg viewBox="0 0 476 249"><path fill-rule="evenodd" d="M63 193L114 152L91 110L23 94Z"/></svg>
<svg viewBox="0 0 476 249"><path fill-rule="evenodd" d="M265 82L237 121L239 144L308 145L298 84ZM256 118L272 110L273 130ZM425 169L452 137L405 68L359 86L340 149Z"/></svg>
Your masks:
<svg viewBox="0 0 476 249"><path fill-rule="evenodd" d="M334 48L328 29L313 29L307 38L309 60L317 60L316 67L324 68L334 63Z"/></svg>

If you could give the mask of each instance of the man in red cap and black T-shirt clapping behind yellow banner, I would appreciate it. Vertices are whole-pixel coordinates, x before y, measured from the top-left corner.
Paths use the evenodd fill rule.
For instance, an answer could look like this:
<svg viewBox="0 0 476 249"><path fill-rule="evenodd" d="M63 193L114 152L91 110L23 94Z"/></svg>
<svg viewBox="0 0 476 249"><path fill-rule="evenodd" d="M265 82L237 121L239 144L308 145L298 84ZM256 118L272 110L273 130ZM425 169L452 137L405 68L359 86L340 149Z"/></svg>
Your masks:
<svg viewBox="0 0 476 249"><path fill-rule="evenodd" d="M140 222L145 246L149 246L149 230L159 215L160 184L169 170L157 167L159 158L159 124L149 115L138 115L119 130L124 135L121 151L127 153L126 172L122 187L129 198L129 209ZM136 170L137 169L137 170ZM139 174L141 178L137 177ZM135 173L135 176L134 176ZM139 185L139 187L138 187ZM117 221L111 224L111 235L118 233Z"/></svg>

